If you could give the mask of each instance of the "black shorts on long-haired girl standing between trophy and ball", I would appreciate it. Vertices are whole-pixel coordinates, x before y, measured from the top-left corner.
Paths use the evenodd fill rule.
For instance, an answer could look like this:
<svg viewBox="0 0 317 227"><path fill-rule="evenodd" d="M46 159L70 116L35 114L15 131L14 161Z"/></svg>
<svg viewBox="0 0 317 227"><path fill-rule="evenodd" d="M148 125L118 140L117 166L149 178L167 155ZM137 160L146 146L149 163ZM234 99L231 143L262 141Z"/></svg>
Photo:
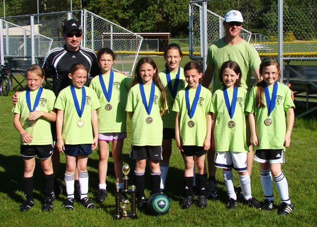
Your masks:
<svg viewBox="0 0 317 227"><path fill-rule="evenodd" d="M130 158L135 160L162 160L162 146L131 146Z"/></svg>

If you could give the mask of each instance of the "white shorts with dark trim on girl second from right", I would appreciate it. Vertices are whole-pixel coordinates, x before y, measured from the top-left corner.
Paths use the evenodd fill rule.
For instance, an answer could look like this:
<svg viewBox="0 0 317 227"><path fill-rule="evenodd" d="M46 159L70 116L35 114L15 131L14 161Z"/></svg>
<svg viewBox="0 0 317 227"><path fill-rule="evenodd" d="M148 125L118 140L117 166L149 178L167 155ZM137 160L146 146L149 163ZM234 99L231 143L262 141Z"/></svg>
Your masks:
<svg viewBox="0 0 317 227"><path fill-rule="evenodd" d="M219 168L234 168L237 172L246 171L246 153L232 151L216 151L215 166Z"/></svg>

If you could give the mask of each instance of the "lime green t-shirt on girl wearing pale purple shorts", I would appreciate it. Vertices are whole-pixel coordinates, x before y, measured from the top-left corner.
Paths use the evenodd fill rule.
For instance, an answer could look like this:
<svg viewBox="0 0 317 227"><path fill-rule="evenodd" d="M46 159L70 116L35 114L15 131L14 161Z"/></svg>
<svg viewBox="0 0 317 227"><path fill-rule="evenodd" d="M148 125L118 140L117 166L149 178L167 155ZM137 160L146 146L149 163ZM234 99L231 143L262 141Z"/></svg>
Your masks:
<svg viewBox="0 0 317 227"><path fill-rule="evenodd" d="M102 75L105 87L109 91L110 74ZM101 108L98 108L98 131L99 133L119 133L126 132L127 112L125 107L127 104L128 91L131 87L132 79L121 73L114 72L114 83L112 85L112 95L110 102L104 97L99 75L94 77L89 87L92 88L98 98ZM111 104L112 109L106 110L105 106Z"/></svg>

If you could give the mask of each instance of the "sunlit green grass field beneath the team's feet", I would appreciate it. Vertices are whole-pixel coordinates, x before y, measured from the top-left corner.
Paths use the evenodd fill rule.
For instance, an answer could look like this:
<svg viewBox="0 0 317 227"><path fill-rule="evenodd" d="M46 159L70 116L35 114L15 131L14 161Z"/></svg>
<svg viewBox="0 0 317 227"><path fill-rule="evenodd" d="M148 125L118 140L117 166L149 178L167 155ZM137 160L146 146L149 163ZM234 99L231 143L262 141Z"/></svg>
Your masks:
<svg viewBox="0 0 317 227"><path fill-rule="evenodd" d="M11 93L12 95L12 93ZM289 192L295 207L290 215L279 216L277 210L271 212L258 211L238 203L235 210L226 210L225 202L227 193L222 179L222 171L218 169L217 180L219 181L218 201L208 200L206 209L197 208L193 205L189 210L182 210L179 202L183 194L183 169L184 164L178 153L175 142L170 162L170 171L166 183L166 194L171 198L171 210L164 216L150 216L147 213L137 211L138 219L113 220L115 212L115 175L112 157L109 159L107 178L108 198L101 204L96 203L96 208L88 210L75 203L75 210L67 211L62 206L65 195L55 201L51 212L41 211L43 174L39 159L36 159L35 169L35 206L28 212L20 212L19 206L24 199L22 191L23 160L19 155L19 133L15 130L11 112L11 95L0 97L0 226L316 226L316 130L317 121L314 119L296 120L292 134L292 142L287 149L286 163L283 164L283 173L289 184ZM133 184L134 161L129 158L131 144L130 122L128 122L128 138L124 144L124 162L131 166L129 174L130 183ZM94 198L98 185L97 175L98 154L95 150L89 156L89 196ZM65 157L61 154L61 164L58 173L59 179L63 179L65 171ZM235 183L238 184L237 174ZM60 180L63 187L65 184ZM262 201L263 194L259 181L259 165L254 162L251 176L252 195ZM149 196L150 188L149 170L146 169L146 196ZM276 203L279 197L274 187Z"/></svg>

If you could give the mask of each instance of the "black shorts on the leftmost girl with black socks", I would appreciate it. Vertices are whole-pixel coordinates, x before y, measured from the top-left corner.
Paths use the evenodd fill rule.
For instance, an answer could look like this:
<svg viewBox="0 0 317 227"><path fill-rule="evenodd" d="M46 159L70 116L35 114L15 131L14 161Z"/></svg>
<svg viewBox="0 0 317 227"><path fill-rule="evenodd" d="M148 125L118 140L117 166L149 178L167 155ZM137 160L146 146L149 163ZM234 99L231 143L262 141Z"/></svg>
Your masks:
<svg viewBox="0 0 317 227"><path fill-rule="evenodd" d="M53 145L21 145L20 154L24 158L32 158L37 155L40 159L47 159L53 154Z"/></svg>

